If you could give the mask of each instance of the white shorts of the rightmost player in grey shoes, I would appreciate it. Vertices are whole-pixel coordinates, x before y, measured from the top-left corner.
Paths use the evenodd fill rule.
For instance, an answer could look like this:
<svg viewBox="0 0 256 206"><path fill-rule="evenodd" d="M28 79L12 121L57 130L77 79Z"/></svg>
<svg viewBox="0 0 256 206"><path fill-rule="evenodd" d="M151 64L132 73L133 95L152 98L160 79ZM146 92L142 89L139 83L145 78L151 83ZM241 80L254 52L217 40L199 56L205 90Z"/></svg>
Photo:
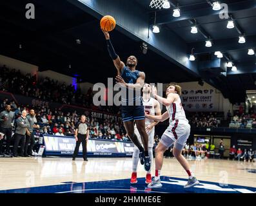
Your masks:
<svg viewBox="0 0 256 206"><path fill-rule="evenodd" d="M182 151L189 136L190 124L184 120L175 120L164 131L160 142L167 148L174 144L173 147Z"/></svg>

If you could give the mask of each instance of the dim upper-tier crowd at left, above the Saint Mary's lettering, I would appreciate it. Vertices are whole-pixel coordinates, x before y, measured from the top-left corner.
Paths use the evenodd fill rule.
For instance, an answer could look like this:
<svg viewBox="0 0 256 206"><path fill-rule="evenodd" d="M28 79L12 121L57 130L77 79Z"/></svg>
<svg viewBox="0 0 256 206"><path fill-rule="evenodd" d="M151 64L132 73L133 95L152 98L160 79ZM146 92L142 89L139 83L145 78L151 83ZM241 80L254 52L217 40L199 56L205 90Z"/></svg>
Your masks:
<svg viewBox="0 0 256 206"><path fill-rule="evenodd" d="M21 71L10 70L5 65L0 68L0 91L39 98L48 102L72 104L100 109L109 113L119 113L119 108L115 106L95 107L92 103L92 88L88 89L87 93L82 93L80 88L75 89L72 84L66 85L48 77L37 79L36 75L30 73L23 75Z"/></svg>

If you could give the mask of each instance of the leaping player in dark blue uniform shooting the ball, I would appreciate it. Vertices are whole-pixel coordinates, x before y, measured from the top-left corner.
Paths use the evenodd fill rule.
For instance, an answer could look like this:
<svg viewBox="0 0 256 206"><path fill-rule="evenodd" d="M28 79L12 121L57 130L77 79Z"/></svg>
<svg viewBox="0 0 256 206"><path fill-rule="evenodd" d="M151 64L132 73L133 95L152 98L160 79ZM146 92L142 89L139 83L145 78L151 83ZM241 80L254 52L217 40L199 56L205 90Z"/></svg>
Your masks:
<svg viewBox="0 0 256 206"><path fill-rule="evenodd" d="M121 113L126 129L127 135L139 148L139 157L141 164L144 164L146 171L150 170L150 156L148 155L148 134L145 129L145 115L144 106L141 99L141 88L144 86L145 73L136 70L137 58L133 55L128 57L126 65L122 62L119 56L115 53L115 50L110 41L110 35L108 32L103 31L106 44L108 46L108 53L113 60L115 68L117 68L117 77L115 80L126 88L126 95L122 95ZM132 91L130 95L129 91ZM131 97L132 96L132 97ZM136 122L137 129L141 135L143 146L140 144L138 137L134 133L134 121Z"/></svg>

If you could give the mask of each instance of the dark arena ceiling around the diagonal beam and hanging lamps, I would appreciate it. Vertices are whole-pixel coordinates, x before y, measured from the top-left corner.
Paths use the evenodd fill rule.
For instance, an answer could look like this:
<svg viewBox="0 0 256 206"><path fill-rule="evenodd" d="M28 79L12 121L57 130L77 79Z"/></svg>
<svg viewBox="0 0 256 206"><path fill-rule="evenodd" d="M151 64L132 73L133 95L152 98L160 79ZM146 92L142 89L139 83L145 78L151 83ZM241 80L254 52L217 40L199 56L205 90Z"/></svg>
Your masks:
<svg viewBox="0 0 256 206"><path fill-rule="evenodd" d="M95 0L97 1L97 0ZM131 0L146 14L153 24L155 9L149 7L150 0ZM146 71L148 82L189 82L199 79L222 91L231 102L242 102L246 90L256 89L255 55L248 55L249 48L256 48L256 1L222 0L231 10L239 31L245 34L246 43L239 44L239 32L235 28L227 29L227 19L220 19L206 0L172 0L168 10L157 10L156 22L160 30L170 30L179 35L188 45L188 57L191 49L198 62L213 61L216 51L237 65L238 72L222 75L210 67L200 71L200 75L184 71L161 55L148 50L141 52L141 42L126 37L115 30L111 33L115 50L121 59L136 55L139 68ZM181 17L172 17L172 9L181 9ZM212 1L213 2L213 1ZM34 3L35 19L25 18L26 3ZM190 33L192 23L197 23L201 32ZM0 1L0 54L39 66L39 70L54 70L70 76L78 76L82 82L106 82L106 77L115 75L110 57L106 51L103 34L99 29L99 20L74 6L66 0L20 0ZM204 46L206 38L213 42L211 48ZM81 44L76 43L76 39ZM22 48L19 48L19 44ZM161 62L161 63L159 63ZM69 68L69 65L71 68ZM239 68L241 66L241 68ZM171 77L162 75L157 69L172 68ZM253 68L253 69L251 69ZM241 69L241 70L239 70Z"/></svg>

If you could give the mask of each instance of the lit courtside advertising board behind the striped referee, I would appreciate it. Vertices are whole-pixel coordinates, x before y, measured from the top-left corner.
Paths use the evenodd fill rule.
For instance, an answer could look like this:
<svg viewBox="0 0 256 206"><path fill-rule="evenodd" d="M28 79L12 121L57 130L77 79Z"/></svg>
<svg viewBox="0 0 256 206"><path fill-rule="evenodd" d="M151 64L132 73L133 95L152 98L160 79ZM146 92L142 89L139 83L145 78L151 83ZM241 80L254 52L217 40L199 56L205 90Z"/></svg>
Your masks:
<svg viewBox="0 0 256 206"><path fill-rule="evenodd" d="M75 150L75 138L73 136L44 135L44 146L46 155L71 155ZM132 142L119 142L114 140L88 140L88 155L113 155L132 156ZM82 144L79 147L79 155L82 155Z"/></svg>

